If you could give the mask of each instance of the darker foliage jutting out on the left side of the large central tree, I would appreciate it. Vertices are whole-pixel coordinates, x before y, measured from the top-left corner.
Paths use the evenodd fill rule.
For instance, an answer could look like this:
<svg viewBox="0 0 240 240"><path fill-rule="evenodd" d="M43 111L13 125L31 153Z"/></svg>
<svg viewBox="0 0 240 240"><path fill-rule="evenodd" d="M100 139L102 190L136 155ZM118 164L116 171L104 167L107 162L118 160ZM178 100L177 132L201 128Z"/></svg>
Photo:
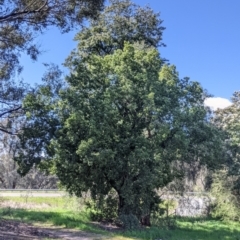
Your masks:
<svg viewBox="0 0 240 240"><path fill-rule="evenodd" d="M25 175L34 164L39 164L45 172L51 172L53 164L50 157L54 150L50 146L60 126L55 112L60 89L64 88L61 71L57 66L48 66L48 72L43 77L42 85L32 90L25 98L23 109L26 121L21 126L18 153L15 161L18 162L19 173ZM22 134L24 133L24 134Z"/></svg>

